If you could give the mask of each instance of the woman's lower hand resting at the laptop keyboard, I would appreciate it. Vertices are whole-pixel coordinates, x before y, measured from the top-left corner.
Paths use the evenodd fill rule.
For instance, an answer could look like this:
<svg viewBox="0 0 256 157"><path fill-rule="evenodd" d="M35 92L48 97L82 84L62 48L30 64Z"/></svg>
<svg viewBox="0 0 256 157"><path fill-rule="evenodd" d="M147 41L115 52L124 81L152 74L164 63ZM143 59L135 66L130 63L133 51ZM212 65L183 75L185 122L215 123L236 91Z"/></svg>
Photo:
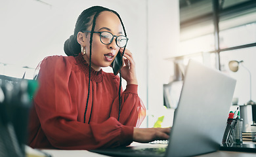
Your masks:
<svg viewBox="0 0 256 157"><path fill-rule="evenodd" d="M167 140L171 128L134 128L133 141L139 143L149 143L155 140Z"/></svg>

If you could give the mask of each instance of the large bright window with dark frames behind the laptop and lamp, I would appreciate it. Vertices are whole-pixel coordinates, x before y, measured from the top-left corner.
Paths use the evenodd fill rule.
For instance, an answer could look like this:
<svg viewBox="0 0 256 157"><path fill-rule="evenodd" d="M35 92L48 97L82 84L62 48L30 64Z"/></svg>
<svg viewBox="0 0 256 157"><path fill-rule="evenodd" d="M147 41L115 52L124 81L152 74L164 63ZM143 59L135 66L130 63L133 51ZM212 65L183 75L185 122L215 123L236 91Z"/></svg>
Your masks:
<svg viewBox="0 0 256 157"><path fill-rule="evenodd" d="M213 5L216 1L217 6ZM255 101L256 1L216 1L180 0L181 56L176 59L186 63L189 58L201 58L198 60L234 77L234 97L238 97L240 105L250 98L249 73L243 67L236 73L230 71L228 62L243 60L251 72L251 96Z"/></svg>

